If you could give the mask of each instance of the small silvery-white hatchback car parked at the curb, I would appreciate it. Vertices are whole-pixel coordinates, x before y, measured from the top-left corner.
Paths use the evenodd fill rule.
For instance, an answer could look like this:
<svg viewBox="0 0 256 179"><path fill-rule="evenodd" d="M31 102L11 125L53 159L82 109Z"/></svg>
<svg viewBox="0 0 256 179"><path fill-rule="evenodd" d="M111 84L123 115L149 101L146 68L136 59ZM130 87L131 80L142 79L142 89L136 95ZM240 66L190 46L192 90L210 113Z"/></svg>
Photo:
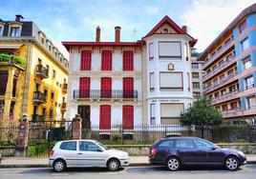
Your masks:
<svg viewBox="0 0 256 179"><path fill-rule="evenodd" d="M129 155L125 151L108 149L95 140L68 140L56 143L50 152L49 163L57 172L92 167L116 171L129 166Z"/></svg>

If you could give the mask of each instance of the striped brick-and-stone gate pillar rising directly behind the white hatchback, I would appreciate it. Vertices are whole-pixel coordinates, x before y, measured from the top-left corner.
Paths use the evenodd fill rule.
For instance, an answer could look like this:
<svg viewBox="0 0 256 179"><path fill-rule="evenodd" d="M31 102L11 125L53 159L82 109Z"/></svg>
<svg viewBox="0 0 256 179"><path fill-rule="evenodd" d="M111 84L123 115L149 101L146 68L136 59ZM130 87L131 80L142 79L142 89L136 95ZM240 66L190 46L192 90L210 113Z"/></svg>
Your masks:
<svg viewBox="0 0 256 179"><path fill-rule="evenodd" d="M82 118L80 117L80 114L75 114L75 117L72 121L72 139L73 140L79 140L82 136Z"/></svg>

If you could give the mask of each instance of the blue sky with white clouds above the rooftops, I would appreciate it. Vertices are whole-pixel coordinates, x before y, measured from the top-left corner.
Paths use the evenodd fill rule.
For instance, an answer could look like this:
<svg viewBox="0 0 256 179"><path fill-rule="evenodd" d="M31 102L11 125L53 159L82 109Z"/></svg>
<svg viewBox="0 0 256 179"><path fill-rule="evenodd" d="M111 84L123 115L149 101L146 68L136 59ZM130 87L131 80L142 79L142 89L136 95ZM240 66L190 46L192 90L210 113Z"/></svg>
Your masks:
<svg viewBox="0 0 256 179"><path fill-rule="evenodd" d="M33 21L68 57L62 41L114 41L116 26L121 41L139 40L168 15L198 39L203 51L228 24L256 0L0 0L0 18L22 14Z"/></svg>

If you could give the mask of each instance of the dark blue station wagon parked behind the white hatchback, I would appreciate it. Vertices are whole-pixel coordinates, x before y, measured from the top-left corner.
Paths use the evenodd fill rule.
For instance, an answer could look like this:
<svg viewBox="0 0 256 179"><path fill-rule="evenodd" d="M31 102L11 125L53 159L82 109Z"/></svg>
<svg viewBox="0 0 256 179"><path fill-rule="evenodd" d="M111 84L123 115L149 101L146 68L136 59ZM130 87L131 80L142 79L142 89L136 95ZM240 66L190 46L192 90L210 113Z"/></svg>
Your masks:
<svg viewBox="0 0 256 179"><path fill-rule="evenodd" d="M246 163L245 154L236 149L222 149L197 137L169 137L155 142L149 153L149 162L175 171L181 166L224 166L236 170Z"/></svg>

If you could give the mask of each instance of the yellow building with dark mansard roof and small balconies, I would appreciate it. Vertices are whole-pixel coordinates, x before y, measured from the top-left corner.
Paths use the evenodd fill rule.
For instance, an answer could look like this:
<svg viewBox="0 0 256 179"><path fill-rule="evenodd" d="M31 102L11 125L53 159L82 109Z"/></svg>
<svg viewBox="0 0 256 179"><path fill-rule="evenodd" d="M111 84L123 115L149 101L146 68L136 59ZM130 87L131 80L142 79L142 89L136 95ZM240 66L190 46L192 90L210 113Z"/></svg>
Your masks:
<svg viewBox="0 0 256 179"><path fill-rule="evenodd" d="M0 20L0 114L18 120L61 120L66 112L68 60L32 21Z"/></svg>

